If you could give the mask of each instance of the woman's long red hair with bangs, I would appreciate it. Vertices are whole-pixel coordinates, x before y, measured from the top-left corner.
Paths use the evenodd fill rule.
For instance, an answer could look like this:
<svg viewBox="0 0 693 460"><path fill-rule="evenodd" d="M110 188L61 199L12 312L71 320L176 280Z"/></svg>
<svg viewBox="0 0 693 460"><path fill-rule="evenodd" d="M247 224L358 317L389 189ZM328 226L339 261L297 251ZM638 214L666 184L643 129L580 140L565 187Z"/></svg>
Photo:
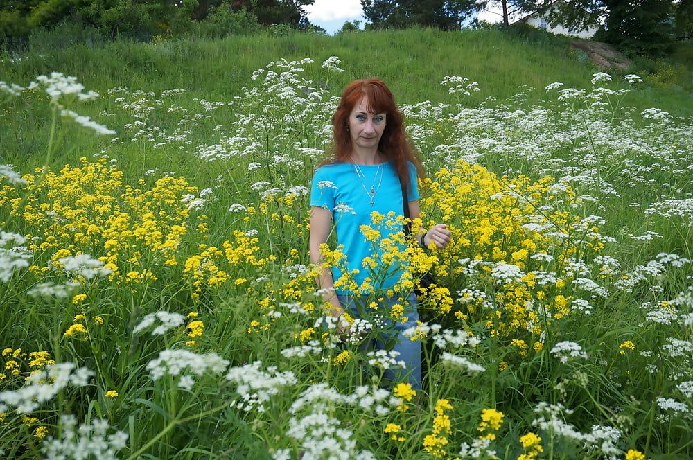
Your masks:
<svg viewBox="0 0 693 460"><path fill-rule="evenodd" d="M362 96L366 96L368 100L369 112L385 114L385 130L380 137L378 150L394 163L397 175L405 187L409 188L407 161L414 163L419 177L425 177L426 172L423 170L419 152L405 133L403 117L394 102L392 91L377 78L354 80L342 91L342 100L332 116L334 138L331 157L323 161L321 166L334 161L346 161L351 156L351 135L347 130L349 115Z"/></svg>

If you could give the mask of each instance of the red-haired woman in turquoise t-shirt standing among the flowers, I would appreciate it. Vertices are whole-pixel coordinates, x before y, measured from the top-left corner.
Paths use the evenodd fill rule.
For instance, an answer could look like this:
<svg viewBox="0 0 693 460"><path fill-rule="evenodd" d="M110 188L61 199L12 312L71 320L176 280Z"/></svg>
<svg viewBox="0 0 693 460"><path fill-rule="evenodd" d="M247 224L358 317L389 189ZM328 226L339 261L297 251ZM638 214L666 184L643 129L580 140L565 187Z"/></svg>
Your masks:
<svg viewBox="0 0 693 460"><path fill-rule="evenodd" d="M361 225L371 224L371 212L381 215L394 211L404 215L403 188L407 195L410 218L419 217L419 189L417 175L423 173L421 161L407 141L402 114L397 109L392 92L380 80L355 80L344 89L342 100L332 116L334 129L333 157L324 161L313 175L310 195L310 260L321 261L320 245L326 242L333 224L337 244L344 245L347 257L346 276L357 286L374 283L362 260L373 256L373 245L365 240ZM401 227L399 227L401 231ZM387 237L387 235L385 235ZM437 224L425 233L413 235L416 241L428 247L446 247L450 231L444 224ZM344 310L353 315L356 305L364 306L367 296L349 287L354 283L342 283L345 273L340 267L325 270L319 277L319 288L325 289L326 301L331 303L331 315L340 317ZM401 272L394 270L378 277L374 288L383 291L392 288ZM337 281L337 288L331 290ZM401 333L416 325L416 295L406 299L408 308L403 316L405 323L396 321L394 350L407 366L407 375L414 388L421 387L421 344L412 342ZM395 297L383 299L380 304L389 311ZM401 301L400 301L401 302ZM394 375L386 374L387 378Z"/></svg>

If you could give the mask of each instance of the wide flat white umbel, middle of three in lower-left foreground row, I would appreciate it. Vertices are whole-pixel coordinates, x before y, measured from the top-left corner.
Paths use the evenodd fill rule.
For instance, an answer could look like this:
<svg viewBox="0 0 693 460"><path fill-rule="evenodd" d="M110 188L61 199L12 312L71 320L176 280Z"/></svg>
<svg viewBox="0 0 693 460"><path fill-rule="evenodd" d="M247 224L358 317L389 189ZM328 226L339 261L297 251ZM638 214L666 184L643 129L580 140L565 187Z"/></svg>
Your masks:
<svg viewBox="0 0 693 460"><path fill-rule="evenodd" d="M152 380L159 380L164 375L181 375L178 387L189 390L195 384L191 375L205 373L220 374L229 366L229 362L216 353L198 354L188 350L167 349L159 353L159 357L147 363L147 369Z"/></svg>

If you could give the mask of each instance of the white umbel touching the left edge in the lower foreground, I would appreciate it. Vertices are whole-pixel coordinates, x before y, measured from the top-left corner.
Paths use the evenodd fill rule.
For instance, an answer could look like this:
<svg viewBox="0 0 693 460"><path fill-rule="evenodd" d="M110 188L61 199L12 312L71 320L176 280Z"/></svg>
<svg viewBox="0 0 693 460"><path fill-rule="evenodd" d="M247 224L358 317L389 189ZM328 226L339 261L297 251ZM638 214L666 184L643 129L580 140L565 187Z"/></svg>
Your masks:
<svg viewBox="0 0 693 460"><path fill-rule="evenodd" d="M29 375L17 391L0 392L0 412L7 412L8 406L16 407L19 414L33 412L68 385L84 387L92 375L94 372L71 362L48 364L43 371Z"/></svg>

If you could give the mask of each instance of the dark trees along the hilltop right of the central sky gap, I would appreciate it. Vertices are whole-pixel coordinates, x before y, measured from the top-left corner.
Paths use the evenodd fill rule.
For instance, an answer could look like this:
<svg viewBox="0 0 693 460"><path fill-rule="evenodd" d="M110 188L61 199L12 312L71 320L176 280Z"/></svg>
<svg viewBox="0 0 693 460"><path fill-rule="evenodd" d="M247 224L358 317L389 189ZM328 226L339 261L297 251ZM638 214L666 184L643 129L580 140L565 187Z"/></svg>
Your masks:
<svg viewBox="0 0 693 460"><path fill-rule="evenodd" d="M514 15L543 12L551 26L576 31L601 25L597 39L659 54L677 37L693 35L693 0L361 0L367 28L437 27L459 30L481 10Z"/></svg>

